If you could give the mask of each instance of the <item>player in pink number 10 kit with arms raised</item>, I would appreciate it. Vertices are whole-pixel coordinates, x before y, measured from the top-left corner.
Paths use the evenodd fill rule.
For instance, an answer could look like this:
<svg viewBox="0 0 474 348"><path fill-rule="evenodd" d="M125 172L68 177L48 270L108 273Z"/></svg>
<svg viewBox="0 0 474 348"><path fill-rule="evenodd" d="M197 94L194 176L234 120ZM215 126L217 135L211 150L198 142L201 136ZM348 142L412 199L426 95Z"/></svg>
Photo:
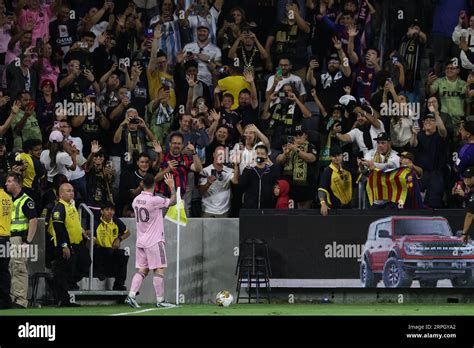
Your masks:
<svg viewBox="0 0 474 348"><path fill-rule="evenodd" d="M135 197L132 203L137 219L135 264L138 272L133 276L132 286L125 299L125 303L128 303L133 308L140 308L135 297L149 270L153 271L153 286L155 287L157 306L173 306L165 303L163 296L165 292L164 275L167 263L162 210L176 204L176 190L171 174L166 174L164 180L171 191L169 199L153 195L155 178L153 175L147 174L143 177L142 193Z"/></svg>

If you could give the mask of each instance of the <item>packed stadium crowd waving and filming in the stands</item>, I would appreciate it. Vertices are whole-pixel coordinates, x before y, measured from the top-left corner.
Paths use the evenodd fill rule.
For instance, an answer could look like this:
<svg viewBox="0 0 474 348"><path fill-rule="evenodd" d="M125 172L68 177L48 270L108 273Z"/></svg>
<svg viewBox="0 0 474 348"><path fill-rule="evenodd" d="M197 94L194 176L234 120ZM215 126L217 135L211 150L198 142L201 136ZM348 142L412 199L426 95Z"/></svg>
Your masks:
<svg viewBox="0 0 474 348"><path fill-rule="evenodd" d="M97 217L134 217L147 173L168 197L171 173L192 217L327 215L399 168L405 208L459 208L473 5L0 0L0 171L44 217L66 182Z"/></svg>

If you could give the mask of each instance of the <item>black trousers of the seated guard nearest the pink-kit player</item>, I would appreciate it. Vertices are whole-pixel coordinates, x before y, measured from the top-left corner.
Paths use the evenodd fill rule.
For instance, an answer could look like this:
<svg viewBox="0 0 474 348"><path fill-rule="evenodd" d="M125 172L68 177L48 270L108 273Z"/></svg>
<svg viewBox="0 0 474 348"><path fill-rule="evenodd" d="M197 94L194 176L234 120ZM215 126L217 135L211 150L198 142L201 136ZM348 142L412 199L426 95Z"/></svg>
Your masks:
<svg viewBox="0 0 474 348"><path fill-rule="evenodd" d="M123 286L127 279L128 255L123 249L95 247L94 271L97 275L115 278L114 286Z"/></svg>

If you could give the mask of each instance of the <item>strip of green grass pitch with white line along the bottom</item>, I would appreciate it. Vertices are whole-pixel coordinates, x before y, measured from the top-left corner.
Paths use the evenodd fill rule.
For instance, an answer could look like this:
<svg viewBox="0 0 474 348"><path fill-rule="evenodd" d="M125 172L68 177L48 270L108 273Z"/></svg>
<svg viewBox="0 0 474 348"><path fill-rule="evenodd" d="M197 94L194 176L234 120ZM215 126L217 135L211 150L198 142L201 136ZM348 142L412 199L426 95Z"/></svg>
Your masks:
<svg viewBox="0 0 474 348"><path fill-rule="evenodd" d="M80 308L29 308L24 310L8 309L0 311L0 316L111 316L111 315L146 315L146 316L253 316L253 315L474 315L474 304L233 304L223 308L217 305L180 305L176 308L156 308L143 305L132 309L127 305L83 306Z"/></svg>

